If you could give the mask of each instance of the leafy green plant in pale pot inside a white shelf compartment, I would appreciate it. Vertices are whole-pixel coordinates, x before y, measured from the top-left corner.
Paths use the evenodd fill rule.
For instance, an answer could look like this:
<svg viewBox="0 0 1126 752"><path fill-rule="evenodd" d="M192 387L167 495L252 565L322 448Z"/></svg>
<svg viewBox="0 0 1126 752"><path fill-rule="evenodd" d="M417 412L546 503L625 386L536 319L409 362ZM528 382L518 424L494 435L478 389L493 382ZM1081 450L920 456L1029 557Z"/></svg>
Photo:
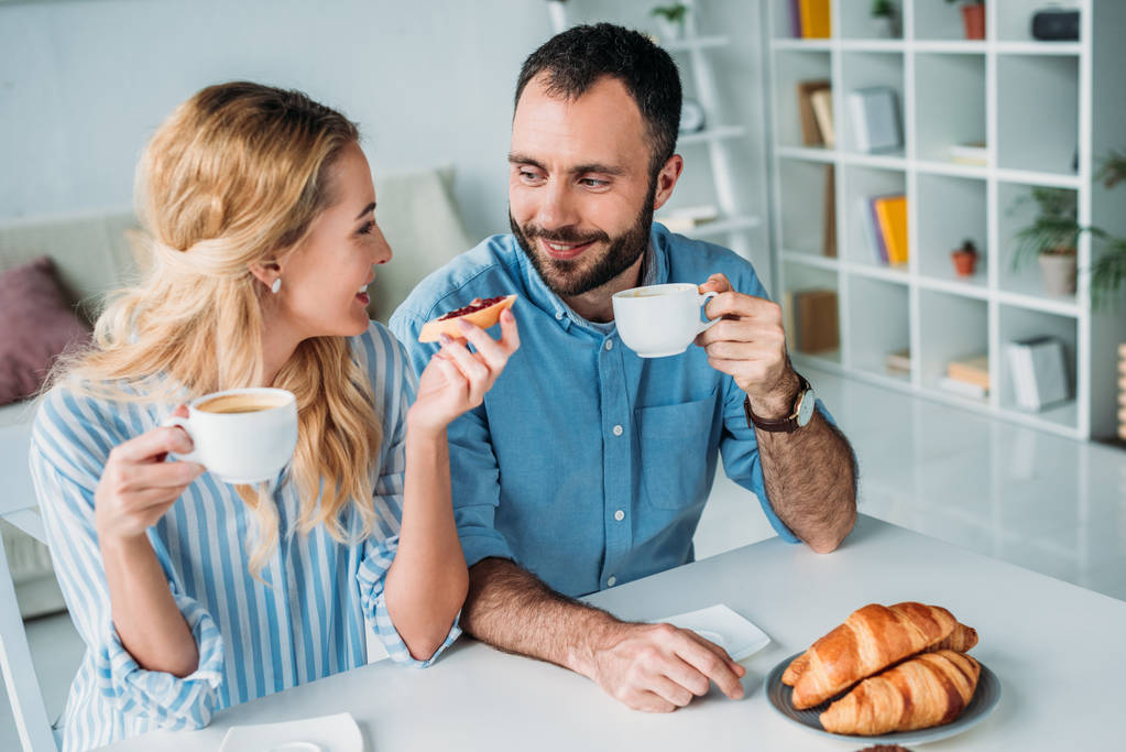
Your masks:
<svg viewBox="0 0 1126 752"><path fill-rule="evenodd" d="M1036 258L1040 265L1044 292L1074 295L1075 242L1084 230L1076 220L1075 191L1035 186L1029 195L1017 199L1012 209L1028 200L1036 203L1037 215L1013 238L1012 268L1016 270Z"/></svg>

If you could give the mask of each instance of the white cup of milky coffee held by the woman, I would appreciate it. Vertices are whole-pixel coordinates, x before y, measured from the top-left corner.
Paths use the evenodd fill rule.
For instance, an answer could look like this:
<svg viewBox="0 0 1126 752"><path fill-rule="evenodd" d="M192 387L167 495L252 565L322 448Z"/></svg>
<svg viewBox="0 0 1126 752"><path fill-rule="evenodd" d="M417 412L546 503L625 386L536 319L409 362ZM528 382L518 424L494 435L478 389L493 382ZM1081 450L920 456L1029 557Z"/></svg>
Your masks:
<svg viewBox="0 0 1126 752"><path fill-rule="evenodd" d="M188 403L188 417L169 417L195 448L180 459L199 463L226 483L272 481L297 446L293 392L251 387L214 392Z"/></svg>

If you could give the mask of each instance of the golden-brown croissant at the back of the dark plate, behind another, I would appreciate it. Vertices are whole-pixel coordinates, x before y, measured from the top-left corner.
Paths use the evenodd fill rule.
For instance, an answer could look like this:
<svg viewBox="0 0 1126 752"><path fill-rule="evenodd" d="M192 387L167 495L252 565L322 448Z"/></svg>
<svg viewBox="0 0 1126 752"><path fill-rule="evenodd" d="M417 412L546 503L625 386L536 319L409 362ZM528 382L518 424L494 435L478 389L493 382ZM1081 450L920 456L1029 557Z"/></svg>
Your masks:
<svg viewBox="0 0 1126 752"><path fill-rule="evenodd" d="M914 602L891 607L869 603L852 611L844 624L795 659L794 707L803 710L824 702L861 679L946 639L957 624L945 608Z"/></svg>

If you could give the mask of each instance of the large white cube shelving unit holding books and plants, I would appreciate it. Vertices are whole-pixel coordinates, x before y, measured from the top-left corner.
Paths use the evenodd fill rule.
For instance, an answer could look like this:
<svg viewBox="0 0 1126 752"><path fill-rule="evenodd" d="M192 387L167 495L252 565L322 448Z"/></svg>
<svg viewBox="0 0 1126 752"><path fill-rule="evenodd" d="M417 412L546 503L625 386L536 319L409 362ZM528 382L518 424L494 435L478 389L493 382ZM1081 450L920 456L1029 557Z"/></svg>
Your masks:
<svg viewBox="0 0 1126 752"><path fill-rule="evenodd" d="M1093 249L1079 242L1075 295L1048 296L1034 266L1013 270L1012 236L1031 206L1011 209L1033 186L1074 190L1081 224L1126 234L1126 189L1093 180L1108 151L1126 149L1126 2L1072 0L1080 42L1030 36L1040 0L986 2L986 38L965 41L958 7L902 0L903 38L878 37L870 0L832 0L829 39L795 39L789 0L767 0L774 259L778 298L787 290L838 290L840 350L792 353L795 362L1010 418L1074 438L1115 426L1115 352L1126 312L1093 310L1084 270ZM832 82L835 149L802 143L796 84ZM900 99L904 149L854 147L846 93L887 86ZM953 144L983 141L985 165L950 161ZM1078 161L1076 161L1078 160ZM837 257L823 254L826 180L834 167ZM1078 168L1078 169L1076 169ZM881 266L860 226L866 197L908 197L910 262ZM949 252L973 239L984 257L969 279ZM1004 344L1052 334L1067 349L1073 400L1039 413L1016 408ZM884 356L910 347L911 373L885 370ZM990 394L942 391L949 360L985 352Z"/></svg>

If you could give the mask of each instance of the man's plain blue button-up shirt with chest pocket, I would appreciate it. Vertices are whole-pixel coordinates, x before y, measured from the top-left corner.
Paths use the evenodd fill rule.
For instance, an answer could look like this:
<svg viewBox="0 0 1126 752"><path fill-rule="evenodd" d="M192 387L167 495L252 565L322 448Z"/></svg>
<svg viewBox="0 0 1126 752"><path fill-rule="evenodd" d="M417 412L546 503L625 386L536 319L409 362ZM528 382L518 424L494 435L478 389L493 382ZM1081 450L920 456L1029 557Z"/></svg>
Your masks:
<svg viewBox="0 0 1126 752"><path fill-rule="evenodd" d="M726 249L660 224L650 249L652 284L703 284L721 271L736 290L767 297L751 265ZM391 329L421 370L437 349L418 341L426 321L511 293L520 296L520 349L484 403L449 427L454 509L471 566L511 558L581 596L685 564L721 454L778 534L797 540L767 499L734 379L696 346L637 357L615 329L598 331L552 293L512 235L489 238L427 277Z"/></svg>

